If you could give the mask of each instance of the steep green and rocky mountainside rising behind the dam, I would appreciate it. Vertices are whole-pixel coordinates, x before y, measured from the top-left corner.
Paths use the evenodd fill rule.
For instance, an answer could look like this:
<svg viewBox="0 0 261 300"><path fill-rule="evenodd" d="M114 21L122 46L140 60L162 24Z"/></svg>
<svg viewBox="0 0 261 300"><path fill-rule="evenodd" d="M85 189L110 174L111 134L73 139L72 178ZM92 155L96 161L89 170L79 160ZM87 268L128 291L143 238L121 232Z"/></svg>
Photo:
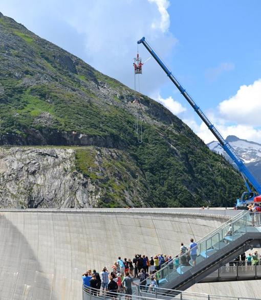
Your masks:
<svg viewBox="0 0 261 300"><path fill-rule="evenodd" d="M97 147L91 160L88 149L76 149L71 172L82 175L81 184L95 186L99 197L90 204L85 193L79 204L72 191L74 200L67 202L73 204L65 206L227 206L241 194L241 176L159 103L3 15L0 38L0 145ZM132 103L135 95L140 104ZM142 144L134 129L135 113L143 121ZM110 165L117 171L108 171ZM0 174L2 182L9 180L1 168ZM24 206L31 201L30 206L46 207L57 200L32 196L37 180L31 179L23 185L28 189ZM3 193L13 199L11 192Z"/></svg>

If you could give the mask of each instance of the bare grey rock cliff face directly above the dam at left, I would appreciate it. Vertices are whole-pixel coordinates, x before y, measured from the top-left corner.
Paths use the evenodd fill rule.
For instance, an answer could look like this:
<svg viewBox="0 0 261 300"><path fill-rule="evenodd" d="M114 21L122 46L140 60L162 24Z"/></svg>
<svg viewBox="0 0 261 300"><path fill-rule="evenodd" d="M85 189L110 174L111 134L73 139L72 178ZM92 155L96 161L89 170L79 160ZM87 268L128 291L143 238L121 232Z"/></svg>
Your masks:
<svg viewBox="0 0 261 300"><path fill-rule="evenodd" d="M113 206L106 197L115 189L118 205L144 206L145 180L135 166L124 163L126 158L121 151L98 147L2 148L0 207ZM89 168L81 169L81 159Z"/></svg>

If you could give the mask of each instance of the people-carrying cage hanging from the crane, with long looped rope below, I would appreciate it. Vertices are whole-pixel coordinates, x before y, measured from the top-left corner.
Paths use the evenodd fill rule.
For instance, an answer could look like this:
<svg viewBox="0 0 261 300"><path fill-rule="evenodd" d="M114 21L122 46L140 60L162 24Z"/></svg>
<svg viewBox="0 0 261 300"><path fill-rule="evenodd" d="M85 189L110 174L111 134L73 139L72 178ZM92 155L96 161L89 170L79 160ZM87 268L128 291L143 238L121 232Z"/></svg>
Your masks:
<svg viewBox="0 0 261 300"><path fill-rule="evenodd" d="M140 93L140 77L139 75L142 74L142 62L141 58L139 58L139 51L137 46L137 58L134 58L134 90L137 91L136 87L136 75L138 76L138 91ZM142 110L141 110L141 103L140 100L137 99L137 95L135 93L134 101L133 103L136 105L136 111L135 111L135 131L137 134L138 143L142 143Z"/></svg>

